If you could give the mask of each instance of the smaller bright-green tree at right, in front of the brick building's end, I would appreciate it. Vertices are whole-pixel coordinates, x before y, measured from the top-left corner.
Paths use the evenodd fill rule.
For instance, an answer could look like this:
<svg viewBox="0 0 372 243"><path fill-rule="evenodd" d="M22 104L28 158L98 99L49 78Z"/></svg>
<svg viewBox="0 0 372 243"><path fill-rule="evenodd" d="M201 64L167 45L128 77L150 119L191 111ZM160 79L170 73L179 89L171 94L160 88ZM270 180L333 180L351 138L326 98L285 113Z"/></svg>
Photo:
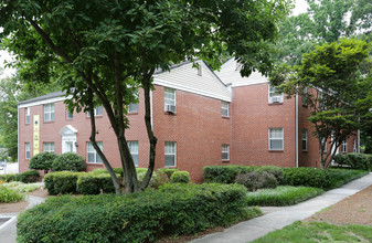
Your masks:
<svg viewBox="0 0 372 243"><path fill-rule="evenodd" d="M319 140L321 168L329 167L338 147L359 128L365 114L360 101L365 101L371 83L361 75L361 64L370 62L369 46L348 39L326 43L304 54L301 65L285 66L274 74L274 83L287 81L279 86L286 94L304 95L311 107L309 120Z"/></svg>

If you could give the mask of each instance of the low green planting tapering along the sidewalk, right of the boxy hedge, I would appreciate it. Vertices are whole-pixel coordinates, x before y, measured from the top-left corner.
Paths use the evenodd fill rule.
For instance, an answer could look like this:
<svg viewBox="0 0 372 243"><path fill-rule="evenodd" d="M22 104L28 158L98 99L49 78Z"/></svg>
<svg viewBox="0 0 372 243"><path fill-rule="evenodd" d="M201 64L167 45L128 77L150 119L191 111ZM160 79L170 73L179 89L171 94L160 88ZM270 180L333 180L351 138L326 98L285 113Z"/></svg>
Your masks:
<svg viewBox="0 0 372 243"><path fill-rule="evenodd" d="M351 170L351 169L329 169L329 186L327 190L339 188L354 179L368 175L365 170Z"/></svg>

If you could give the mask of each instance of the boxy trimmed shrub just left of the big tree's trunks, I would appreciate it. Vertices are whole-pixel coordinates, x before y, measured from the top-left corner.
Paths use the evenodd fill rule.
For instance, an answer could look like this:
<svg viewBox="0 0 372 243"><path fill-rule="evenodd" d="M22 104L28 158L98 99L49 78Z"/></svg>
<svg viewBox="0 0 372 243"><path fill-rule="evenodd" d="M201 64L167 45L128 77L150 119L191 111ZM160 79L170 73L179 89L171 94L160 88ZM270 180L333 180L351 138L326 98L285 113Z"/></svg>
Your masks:
<svg viewBox="0 0 372 243"><path fill-rule="evenodd" d="M119 175L116 176L118 180L121 179ZM81 173L76 182L76 190L81 194L115 193L115 187L108 173Z"/></svg>

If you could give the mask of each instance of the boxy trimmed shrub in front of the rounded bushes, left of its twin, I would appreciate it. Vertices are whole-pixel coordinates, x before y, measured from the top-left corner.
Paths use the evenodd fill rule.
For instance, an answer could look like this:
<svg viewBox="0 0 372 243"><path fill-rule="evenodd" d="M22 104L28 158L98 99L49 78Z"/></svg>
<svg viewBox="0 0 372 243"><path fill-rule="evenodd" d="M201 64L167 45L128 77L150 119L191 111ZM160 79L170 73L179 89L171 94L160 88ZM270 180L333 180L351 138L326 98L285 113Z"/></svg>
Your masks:
<svg viewBox="0 0 372 243"><path fill-rule="evenodd" d="M60 171L45 175L44 183L49 194L76 192L76 181L81 172Z"/></svg>

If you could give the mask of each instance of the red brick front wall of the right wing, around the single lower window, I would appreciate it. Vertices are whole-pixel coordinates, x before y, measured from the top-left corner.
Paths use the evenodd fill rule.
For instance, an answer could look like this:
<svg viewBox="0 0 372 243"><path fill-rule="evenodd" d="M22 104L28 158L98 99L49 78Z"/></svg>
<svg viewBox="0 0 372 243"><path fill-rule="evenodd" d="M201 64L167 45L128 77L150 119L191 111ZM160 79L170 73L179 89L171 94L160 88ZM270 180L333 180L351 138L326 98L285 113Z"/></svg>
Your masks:
<svg viewBox="0 0 372 243"><path fill-rule="evenodd" d="M295 166L295 99L268 104L268 84L233 88L233 151L235 165ZM284 128L284 150L268 149L268 129Z"/></svg>

